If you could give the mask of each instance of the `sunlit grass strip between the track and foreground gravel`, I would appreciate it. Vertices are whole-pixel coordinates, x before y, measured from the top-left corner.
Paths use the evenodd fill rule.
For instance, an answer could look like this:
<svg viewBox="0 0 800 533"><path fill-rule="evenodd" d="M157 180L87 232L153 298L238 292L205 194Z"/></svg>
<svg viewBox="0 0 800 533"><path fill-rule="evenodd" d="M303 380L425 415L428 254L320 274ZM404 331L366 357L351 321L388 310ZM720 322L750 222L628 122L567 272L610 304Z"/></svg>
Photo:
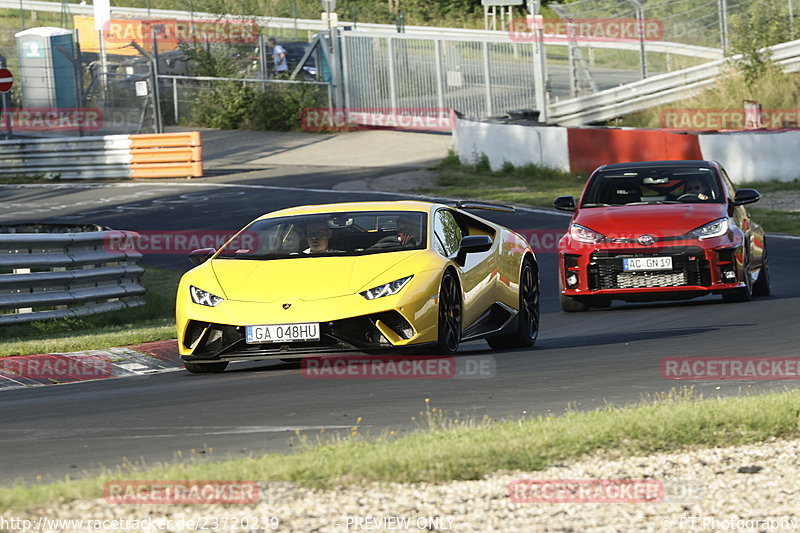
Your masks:
<svg viewBox="0 0 800 533"><path fill-rule="evenodd" d="M601 450L608 456L648 455L800 437L800 391L702 400L685 389L630 407L481 422L455 420L430 408L427 400L424 405L422 429L402 437L388 432L370 438L354 427L349 436L301 446L288 456L189 460L147 469L122 464L91 478L18 482L0 489L0 512L98 498L103 484L112 480L289 481L316 488L373 481L436 483L542 470Z"/></svg>

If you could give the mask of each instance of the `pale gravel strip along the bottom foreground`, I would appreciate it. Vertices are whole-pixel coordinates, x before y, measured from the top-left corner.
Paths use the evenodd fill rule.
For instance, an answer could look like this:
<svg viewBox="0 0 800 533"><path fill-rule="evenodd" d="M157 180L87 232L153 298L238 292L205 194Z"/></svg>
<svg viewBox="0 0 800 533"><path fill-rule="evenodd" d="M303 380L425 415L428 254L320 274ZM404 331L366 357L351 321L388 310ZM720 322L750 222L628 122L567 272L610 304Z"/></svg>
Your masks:
<svg viewBox="0 0 800 533"><path fill-rule="evenodd" d="M261 484L261 501L247 506L121 505L100 499L61 504L24 517L6 513L0 517L0 529L2 518L28 518L35 522L39 517L150 517L162 522L144 528L129 523L128 530L795 531L800 530L798 458L800 441L773 439L755 445L651 457L595 455L541 472L498 473L479 481L445 484L384 483L320 491L289 483L268 483ZM659 485L663 492L657 502L650 503L515 503L509 497L509 483L520 479L633 480ZM270 523L270 517L279 520L279 524ZM212 528L214 519L218 523ZM275 525L277 528L273 529ZM82 530L45 527L40 531L87 529L90 528L84 524ZM104 530L122 529L117 526Z"/></svg>

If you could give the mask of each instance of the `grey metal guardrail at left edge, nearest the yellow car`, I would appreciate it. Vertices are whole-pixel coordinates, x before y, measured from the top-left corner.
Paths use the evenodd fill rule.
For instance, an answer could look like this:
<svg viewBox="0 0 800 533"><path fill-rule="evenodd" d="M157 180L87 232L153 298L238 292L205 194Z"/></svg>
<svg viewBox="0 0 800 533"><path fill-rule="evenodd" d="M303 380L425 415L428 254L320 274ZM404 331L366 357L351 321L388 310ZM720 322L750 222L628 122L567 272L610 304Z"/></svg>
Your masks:
<svg viewBox="0 0 800 533"><path fill-rule="evenodd" d="M0 234L0 324L143 305L142 254L107 250L111 233Z"/></svg>

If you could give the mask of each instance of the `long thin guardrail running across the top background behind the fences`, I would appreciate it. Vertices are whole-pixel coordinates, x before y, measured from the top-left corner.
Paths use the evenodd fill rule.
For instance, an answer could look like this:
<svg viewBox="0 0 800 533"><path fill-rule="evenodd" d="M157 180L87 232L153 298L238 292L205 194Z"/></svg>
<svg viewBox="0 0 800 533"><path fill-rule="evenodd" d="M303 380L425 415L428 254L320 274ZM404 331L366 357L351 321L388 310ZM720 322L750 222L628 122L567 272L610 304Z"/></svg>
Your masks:
<svg viewBox="0 0 800 533"><path fill-rule="evenodd" d="M72 14L91 15L93 13L92 6L80 4L66 4L69 12ZM64 6L60 2L43 2L37 0L25 0L25 9L29 11L44 11L51 13L61 13ZM0 8L4 9L19 9L19 0L0 0ZM220 20L223 19L237 19L240 17L219 15L215 13L203 13L178 11L172 9L146 9L138 7L111 7L112 16L121 15L125 17L136 18L181 18L193 20ZM327 30L327 23L321 19L293 19L293 18L280 18L280 17L252 17L255 22L262 27L269 28L283 28L283 29L302 29L310 31ZM352 22L340 21L339 27L352 26ZM486 39L505 38L506 42L511 42L507 31L486 31L486 30L473 30L464 28L439 28L433 26L404 26L405 33L423 34L437 37L463 37L466 40L480 42ZM377 32L390 32L397 35L397 27L393 24L372 24L359 22L358 30L377 31ZM548 46L568 46L566 41L555 41L546 43ZM611 42L611 41L597 41L592 42L593 48L608 48L612 50L639 50L638 42ZM718 48L711 48L706 46L697 46L683 43L673 43L668 41L648 41L648 52L658 52L665 54L684 55L689 57L700 57L704 59L718 59L722 57L722 50Z"/></svg>

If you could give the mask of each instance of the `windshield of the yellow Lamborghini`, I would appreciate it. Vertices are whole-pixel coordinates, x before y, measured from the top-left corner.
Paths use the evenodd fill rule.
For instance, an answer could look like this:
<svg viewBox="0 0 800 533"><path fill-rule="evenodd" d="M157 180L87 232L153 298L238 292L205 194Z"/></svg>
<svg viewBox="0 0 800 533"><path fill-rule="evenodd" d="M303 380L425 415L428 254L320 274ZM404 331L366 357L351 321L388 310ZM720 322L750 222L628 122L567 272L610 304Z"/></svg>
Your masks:
<svg viewBox="0 0 800 533"><path fill-rule="evenodd" d="M352 211L257 220L218 259L366 255L426 246L427 213Z"/></svg>

